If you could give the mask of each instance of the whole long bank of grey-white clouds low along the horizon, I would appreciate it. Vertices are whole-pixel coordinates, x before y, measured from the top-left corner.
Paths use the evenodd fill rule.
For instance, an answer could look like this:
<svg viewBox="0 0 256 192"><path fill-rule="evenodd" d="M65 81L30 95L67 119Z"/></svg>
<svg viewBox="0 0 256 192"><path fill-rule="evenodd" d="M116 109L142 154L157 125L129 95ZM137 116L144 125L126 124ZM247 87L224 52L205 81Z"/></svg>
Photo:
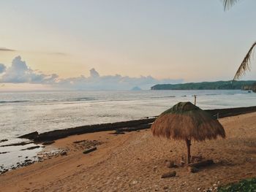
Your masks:
<svg viewBox="0 0 256 192"><path fill-rule="evenodd" d="M101 76L94 68L90 70L89 77L81 75L80 77L61 79L58 74L48 75L30 69L20 56L15 57L12 66L7 69L0 64L0 72L2 74L0 82L47 84L53 88L71 90L130 90L135 86L149 89L155 84L183 82L183 80L171 79L157 80L151 76L128 77L120 74Z"/></svg>

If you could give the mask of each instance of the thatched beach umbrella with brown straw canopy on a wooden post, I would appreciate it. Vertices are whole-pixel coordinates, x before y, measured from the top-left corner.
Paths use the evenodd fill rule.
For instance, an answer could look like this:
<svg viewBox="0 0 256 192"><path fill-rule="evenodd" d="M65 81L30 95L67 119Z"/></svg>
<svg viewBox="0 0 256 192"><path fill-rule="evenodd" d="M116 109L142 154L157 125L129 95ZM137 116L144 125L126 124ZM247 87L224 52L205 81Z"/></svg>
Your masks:
<svg viewBox="0 0 256 192"><path fill-rule="evenodd" d="M225 130L218 120L191 102L180 102L162 112L151 126L154 136L182 139L187 144L187 164L190 163L191 140L203 141L225 138Z"/></svg>

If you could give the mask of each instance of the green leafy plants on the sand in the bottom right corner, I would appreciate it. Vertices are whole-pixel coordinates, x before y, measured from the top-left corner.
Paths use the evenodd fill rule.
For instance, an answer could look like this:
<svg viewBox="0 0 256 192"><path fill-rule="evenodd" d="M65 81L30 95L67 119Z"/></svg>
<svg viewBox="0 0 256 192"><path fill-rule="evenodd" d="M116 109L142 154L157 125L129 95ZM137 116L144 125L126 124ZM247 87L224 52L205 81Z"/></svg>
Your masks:
<svg viewBox="0 0 256 192"><path fill-rule="evenodd" d="M246 180L241 180L238 183L232 183L218 188L218 192L255 192L256 191L256 177Z"/></svg>

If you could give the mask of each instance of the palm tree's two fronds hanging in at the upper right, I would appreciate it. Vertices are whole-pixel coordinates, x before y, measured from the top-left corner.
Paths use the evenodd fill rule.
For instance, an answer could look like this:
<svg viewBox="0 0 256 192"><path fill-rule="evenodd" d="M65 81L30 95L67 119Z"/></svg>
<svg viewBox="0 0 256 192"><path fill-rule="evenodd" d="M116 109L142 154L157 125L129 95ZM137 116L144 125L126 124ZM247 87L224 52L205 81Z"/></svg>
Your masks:
<svg viewBox="0 0 256 192"><path fill-rule="evenodd" d="M223 0L224 9L225 10L230 9L230 7L232 7L238 1L239 0ZM254 42L252 46L249 48L249 51L245 55L244 60L239 66L233 80L238 80L241 76L243 76L246 73L246 71L249 71L251 69L250 68L251 58L252 58L252 53L255 47L256 47L256 42Z"/></svg>

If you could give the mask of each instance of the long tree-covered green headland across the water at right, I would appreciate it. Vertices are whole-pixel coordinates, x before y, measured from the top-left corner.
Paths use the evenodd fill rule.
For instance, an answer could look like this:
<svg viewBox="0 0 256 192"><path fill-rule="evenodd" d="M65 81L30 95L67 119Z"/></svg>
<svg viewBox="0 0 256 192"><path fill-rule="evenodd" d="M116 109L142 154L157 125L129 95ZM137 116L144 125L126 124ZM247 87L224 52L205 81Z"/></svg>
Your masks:
<svg viewBox="0 0 256 192"><path fill-rule="evenodd" d="M159 84L151 90L215 90L215 89L241 89L251 90L255 80L247 81L215 81L215 82L188 82L182 84Z"/></svg>

